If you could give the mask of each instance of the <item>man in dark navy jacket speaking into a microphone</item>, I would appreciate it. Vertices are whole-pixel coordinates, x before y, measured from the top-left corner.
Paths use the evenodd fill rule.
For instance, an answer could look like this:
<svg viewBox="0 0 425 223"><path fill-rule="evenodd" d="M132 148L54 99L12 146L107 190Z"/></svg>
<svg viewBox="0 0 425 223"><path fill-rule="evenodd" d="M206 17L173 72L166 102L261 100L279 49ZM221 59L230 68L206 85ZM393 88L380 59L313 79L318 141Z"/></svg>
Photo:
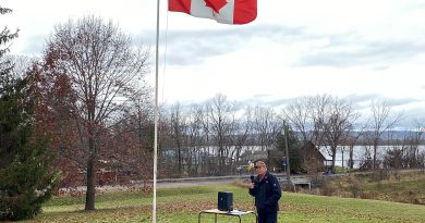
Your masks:
<svg viewBox="0 0 425 223"><path fill-rule="evenodd" d="M255 170L258 175L250 186L250 195L255 197L258 223L277 223L279 199L282 196L278 178L267 171L264 161L257 161Z"/></svg>

